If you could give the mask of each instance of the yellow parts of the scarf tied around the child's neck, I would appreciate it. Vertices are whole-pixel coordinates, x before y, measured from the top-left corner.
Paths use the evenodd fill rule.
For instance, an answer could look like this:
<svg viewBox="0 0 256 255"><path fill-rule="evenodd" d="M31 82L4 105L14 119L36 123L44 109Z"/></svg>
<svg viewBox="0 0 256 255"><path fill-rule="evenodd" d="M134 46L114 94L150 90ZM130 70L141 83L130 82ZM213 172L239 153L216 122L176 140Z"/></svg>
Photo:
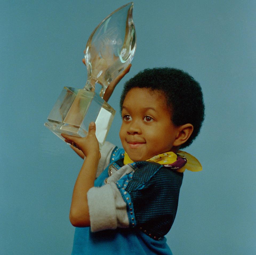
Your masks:
<svg viewBox="0 0 256 255"><path fill-rule="evenodd" d="M176 170L177 172L183 173L186 169L192 172L198 172L202 170L202 165L200 164L198 159L192 156L191 154L185 151L178 151L177 154L178 156L187 159L186 165ZM161 164L161 165L170 165L170 164L173 164L176 160L177 160L177 155L174 152L165 152L165 153L156 155L146 161L157 162L158 164ZM134 161L132 161L129 158L128 154L125 152L123 164L127 165L133 162Z"/></svg>

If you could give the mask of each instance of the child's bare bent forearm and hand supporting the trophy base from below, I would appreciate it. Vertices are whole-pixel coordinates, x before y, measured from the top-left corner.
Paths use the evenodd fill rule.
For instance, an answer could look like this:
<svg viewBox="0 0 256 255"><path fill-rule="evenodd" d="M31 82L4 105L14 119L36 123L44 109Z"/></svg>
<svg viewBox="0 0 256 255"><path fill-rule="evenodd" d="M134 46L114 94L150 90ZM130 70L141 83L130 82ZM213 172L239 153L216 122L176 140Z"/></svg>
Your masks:
<svg viewBox="0 0 256 255"><path fill-rule="evenodd" d="M75 182L73 197L70 207L70 222L75 227L90 226L89 207L87 201L87 192L94 186L97 167L101 154L99 152L99 143L95 136L95 123L90 123L89 132L86 137L75 137L62 134L65 141L74 143L86 156L82 168Z"/></svg>

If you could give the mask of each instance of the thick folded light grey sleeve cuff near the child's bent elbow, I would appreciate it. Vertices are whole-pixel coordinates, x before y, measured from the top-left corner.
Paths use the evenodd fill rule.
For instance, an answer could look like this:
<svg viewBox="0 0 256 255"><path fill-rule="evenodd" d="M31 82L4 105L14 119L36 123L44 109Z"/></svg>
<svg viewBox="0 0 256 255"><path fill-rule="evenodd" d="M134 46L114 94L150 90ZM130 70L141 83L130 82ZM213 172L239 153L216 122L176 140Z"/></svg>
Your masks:
<svg viewBox="0 0 256 255"><path fill-rule="evenodd" d="M117 228L115 197L110 185L92 187L87 192L91 232Z"/></svg>

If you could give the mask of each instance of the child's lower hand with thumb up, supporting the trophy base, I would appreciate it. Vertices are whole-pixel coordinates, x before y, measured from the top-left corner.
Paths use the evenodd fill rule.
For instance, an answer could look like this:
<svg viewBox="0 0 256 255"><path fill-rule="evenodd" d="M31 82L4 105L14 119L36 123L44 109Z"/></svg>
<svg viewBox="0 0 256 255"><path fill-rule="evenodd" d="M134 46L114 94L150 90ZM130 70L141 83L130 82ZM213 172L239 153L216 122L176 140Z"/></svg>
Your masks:
<svg viewBox="0 0 256 255"><path fill-rule="evenodd" d="M91 122L86 137L77 137L66 134L61 134L61 136L65 138L65 142L72 144L73 147L80 150L86 157L95 156L100 159L101 153L99 152L99 142L96 138L95 131L96 125L94 122ZM77 152L75 149L74 151ZM77 154L82 157L81 153L81 155L78 152Z"/></svg>

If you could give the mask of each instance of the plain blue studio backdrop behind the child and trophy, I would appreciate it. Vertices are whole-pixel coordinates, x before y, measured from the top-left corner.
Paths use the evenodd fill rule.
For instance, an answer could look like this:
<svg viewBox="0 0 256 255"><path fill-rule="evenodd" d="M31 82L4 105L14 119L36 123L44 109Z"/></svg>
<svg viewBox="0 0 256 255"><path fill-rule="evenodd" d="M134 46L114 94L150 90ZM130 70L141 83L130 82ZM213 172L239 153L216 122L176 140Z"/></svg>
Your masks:
<svg viewBox="0 0 256 255"><path fill-rule="evenodd" d="M99 22L125 1L0 1L0 254L70 254L69 207L82 161L43 126L64 86L82 88L81 59ZM139 70L172 66L201 83L202 131L167 235L174 255L255 254L256 2L135 1ZM117 112L107 140L121 146Z"/></svg>

